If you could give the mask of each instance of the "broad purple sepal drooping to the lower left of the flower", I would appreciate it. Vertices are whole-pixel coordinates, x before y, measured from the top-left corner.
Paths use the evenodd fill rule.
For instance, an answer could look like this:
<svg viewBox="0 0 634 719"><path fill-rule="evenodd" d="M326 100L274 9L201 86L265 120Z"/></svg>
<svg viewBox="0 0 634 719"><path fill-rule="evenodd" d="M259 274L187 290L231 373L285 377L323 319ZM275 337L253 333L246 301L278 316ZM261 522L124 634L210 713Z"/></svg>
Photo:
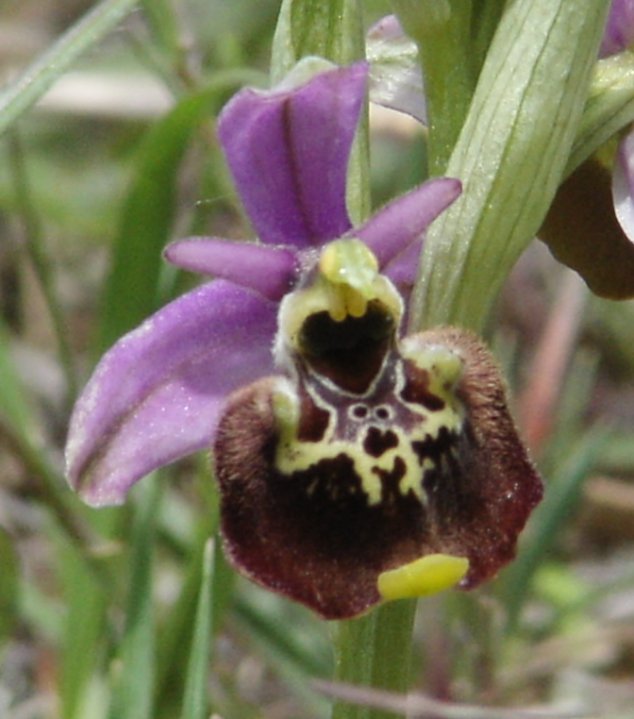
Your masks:
<svg viewBox="0 0 634 719"><path fill-rule="evenodd" d="M225 396L272 369L276 305L224 280L183 295L103 357L78 400L67 476L94 506L211 446Z"/></svg>

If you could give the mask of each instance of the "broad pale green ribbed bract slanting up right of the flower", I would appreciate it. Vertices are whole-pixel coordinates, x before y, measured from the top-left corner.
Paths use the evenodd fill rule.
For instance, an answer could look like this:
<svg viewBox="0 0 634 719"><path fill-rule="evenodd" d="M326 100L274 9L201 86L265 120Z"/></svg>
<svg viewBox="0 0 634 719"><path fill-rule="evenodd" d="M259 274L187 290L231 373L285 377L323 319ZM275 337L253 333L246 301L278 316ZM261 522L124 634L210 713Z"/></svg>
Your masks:
<svg viewBox="0 0 634 719"><path fill-rule="evenodd" d="M561 181L608 4L508 4L447 166L464 191L428 233L413 328L483 327Z"/></svg>

